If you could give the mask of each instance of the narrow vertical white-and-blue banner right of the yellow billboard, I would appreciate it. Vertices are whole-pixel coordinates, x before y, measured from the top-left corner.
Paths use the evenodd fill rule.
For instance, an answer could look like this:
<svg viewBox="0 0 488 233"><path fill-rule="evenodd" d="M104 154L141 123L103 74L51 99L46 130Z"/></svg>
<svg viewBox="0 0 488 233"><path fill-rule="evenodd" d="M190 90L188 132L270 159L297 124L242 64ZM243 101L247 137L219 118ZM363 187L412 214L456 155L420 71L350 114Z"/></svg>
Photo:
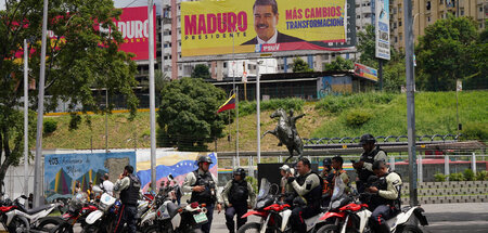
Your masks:
<svg viewBox="0 0 488 233"><path fill-rule="evenodd" d="M389 0L375 2L376 57L389 60Z"/></svg>

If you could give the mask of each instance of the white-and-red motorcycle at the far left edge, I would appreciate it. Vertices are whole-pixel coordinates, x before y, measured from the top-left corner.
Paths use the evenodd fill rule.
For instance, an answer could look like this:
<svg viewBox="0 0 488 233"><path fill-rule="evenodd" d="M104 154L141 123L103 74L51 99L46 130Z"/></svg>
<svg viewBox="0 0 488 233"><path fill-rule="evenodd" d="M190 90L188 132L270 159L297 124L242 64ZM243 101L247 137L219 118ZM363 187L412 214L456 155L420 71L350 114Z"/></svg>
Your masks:
<svg viewBox="0 0 488 233"><path fill-rule="evenodd" d="M61 203L48 204L34 209L24 207L27 197L22 195L11 202L3 200L0 207L0 222L9 232L47 232L55 229L60 219L48 217L54 209L62 206Z"/></svg>

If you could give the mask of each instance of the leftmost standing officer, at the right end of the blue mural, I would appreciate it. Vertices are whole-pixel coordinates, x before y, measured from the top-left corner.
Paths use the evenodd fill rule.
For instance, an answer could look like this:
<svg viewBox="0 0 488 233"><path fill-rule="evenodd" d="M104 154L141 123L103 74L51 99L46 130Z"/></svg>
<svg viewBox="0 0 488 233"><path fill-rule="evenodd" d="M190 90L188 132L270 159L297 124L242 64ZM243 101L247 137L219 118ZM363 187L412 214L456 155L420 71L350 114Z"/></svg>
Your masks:
<svg viewBox="0 0 488 233"><path fill-rule="evenodd" d="M127 165L124 168L118 180L114 184L114 192L120 193L120 211L115 225L115 232L121 232L124 224L127 223L129 232L136 233L136 215L138 215L138 199L141 182L139 178L133 174L133 167Z"/></svg>

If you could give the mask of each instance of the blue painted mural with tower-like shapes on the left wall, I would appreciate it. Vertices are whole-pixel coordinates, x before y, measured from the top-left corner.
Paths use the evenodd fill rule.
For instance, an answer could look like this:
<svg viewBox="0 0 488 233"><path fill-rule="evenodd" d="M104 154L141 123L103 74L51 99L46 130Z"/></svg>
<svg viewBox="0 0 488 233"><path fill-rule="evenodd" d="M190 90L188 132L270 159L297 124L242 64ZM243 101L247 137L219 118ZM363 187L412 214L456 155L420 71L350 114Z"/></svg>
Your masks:
<svg viewBox="0 0 488 233"><path fill-rule="evenodd" d="M76 182L86 191L89 182L99 184L105 173L115 182L126 165L136 167L134 152L46 155L44 195L48 200L70 197Z"/></svg>

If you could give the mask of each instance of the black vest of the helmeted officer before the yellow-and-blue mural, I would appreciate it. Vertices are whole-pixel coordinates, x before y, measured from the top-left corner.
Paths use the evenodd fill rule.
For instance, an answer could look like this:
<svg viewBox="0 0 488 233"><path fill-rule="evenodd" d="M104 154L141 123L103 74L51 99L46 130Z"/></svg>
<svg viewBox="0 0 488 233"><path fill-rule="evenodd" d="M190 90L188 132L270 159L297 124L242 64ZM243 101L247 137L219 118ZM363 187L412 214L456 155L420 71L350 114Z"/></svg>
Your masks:
<svg viewBox="0 0 488 233"><path fill-rule="evenodd" d="M205 203L207 205L215 204L216 195L216 185L214 179L211 179L210 172L205 172L204 174L198 174L198 170L194 170L196 182L192 186L205 186L203 192L192 192L192 196L190 197L190 202L197 202L198 204Z"/></svg>

